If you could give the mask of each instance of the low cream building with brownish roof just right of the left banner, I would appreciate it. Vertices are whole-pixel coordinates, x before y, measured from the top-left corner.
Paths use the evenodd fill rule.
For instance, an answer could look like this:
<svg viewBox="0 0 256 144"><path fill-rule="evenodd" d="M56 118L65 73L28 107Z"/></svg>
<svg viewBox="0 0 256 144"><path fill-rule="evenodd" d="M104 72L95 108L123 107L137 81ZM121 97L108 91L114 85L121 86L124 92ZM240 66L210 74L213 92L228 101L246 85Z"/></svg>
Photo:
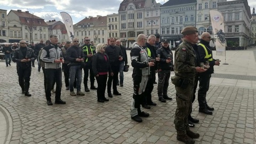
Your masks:
<svg viewBox="0 0 256 144"><path fill-rule="evenodd" d="M108 38L107 17L101 15L85 17L74 25L74 37L78 38L81 44L84 43L84 37L89 37L94 45L106 43Z"/></svg>

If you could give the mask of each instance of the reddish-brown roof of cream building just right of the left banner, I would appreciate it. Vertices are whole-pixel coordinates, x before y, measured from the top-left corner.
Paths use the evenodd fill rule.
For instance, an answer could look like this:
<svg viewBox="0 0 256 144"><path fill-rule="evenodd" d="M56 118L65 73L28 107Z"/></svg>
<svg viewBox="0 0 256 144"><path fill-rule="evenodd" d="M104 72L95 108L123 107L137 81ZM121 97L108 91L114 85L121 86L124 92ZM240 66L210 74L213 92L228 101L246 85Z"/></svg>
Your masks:
<svg viewBox="0 0 256 144"><path fill-rule="evenodd" d="M103 27L107 25L107 16L104 17L89 17L85 18L74 25L74 28L83 25L93 25L94 27Z"/></svg>

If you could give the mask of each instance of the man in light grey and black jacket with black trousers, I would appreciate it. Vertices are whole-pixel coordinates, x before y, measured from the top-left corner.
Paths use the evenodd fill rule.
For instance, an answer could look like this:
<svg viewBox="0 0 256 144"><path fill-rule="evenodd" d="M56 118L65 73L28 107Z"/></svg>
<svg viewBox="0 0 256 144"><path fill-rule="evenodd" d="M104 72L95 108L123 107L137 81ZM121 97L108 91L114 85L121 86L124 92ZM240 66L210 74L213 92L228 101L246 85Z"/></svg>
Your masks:
<svg viewBox="0 0 256 144"><path fill-rule="evenodd" d="M61 87L62 87L62 76L61 76L61 63L64 61L60 58L62 56L62 51L57 45L58 37L56 35L50 36L51 43L43 48L41 54L41 60L45 62L46 71L46 91L45 96L47 100L47 105L52 106L51 100L51 89L53 81L56 81L56 92L55 92L55 104L66 104L65 101L61 100Z"/></svg>

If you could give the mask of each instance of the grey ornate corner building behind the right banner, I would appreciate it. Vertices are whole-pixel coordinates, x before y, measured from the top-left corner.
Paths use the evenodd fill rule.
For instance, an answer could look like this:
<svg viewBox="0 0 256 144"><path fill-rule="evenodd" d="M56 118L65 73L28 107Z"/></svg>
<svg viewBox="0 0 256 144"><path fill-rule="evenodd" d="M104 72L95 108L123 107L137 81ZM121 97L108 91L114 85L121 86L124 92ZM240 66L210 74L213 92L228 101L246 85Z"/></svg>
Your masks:
<svg viewBox="0 0 256 144"><path fill-rule="evenodd" d="M250 19L252 18L247 0L218 3L218 11L225 19L227 46L247 46L250 44Z"/></svg>

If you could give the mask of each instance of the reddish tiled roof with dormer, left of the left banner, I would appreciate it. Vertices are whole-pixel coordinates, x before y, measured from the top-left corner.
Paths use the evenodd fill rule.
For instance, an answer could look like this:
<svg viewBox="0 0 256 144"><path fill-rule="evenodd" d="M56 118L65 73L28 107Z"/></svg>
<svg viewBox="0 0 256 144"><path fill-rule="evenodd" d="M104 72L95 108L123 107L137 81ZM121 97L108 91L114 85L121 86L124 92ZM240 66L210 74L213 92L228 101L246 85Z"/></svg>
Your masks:
<svg viewBox="0 0 256 144"><path fill-rule="evenodd" d="M11 10L11 11L19 17L20 22L24 25L28 25L27 20L33 19L35 21L35 24L33 24L33 25L35 25L35 26L48 26L45 23L44 19L39 18L34 14L31 14L29 12L22 12L22 11L20 11L20 12L14 11L14 10ZM41 21L41 24L39 24L39 21Z"/></svg>

